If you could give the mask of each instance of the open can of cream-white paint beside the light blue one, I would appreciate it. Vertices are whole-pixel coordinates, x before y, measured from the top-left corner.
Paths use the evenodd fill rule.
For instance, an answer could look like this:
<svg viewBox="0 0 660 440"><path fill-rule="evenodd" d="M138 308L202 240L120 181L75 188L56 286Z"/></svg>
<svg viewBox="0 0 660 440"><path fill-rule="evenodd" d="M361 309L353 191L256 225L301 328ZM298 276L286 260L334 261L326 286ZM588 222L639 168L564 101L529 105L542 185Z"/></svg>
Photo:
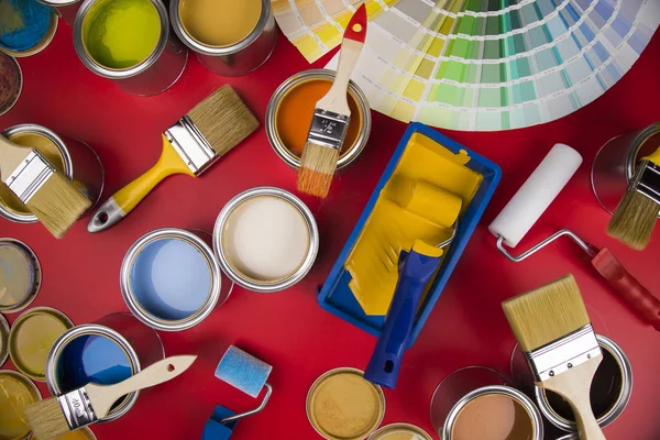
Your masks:
<svg viewBox="0 0 660 440"><path fill-rule="evenodd" d="M319 230L299 198L280 188L257 187L222 208L213 228L213 251L222 271L239 286L279 292L311 270Z"/></svg>

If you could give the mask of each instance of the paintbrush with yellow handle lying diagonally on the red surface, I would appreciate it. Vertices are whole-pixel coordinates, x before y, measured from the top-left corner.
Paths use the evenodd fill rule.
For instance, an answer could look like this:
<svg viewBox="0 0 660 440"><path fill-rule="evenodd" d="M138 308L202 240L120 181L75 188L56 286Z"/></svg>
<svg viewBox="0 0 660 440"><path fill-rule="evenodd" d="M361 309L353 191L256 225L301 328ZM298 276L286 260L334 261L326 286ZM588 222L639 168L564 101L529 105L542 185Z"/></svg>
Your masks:
<svg viewBox="0 0 660 440"><path fill-rule="evenodd" d="M258 121L230 86L222 86L163 133L163 153L150 170L110 197L87 230L100 232L131 212L165 177L197 177L252 134Z"/></svg>

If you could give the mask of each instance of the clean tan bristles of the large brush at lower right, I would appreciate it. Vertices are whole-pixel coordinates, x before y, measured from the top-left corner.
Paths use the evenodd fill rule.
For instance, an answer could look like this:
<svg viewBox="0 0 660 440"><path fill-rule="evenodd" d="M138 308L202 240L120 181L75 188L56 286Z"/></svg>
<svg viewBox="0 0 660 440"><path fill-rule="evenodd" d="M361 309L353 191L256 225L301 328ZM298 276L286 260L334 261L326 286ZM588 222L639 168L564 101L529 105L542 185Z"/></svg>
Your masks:
<svg viewBox="0 0 660 440"><path fill-rule="evenodd" d="M502 302L506 319L525 352L590 323L573 275Z"/></svg>

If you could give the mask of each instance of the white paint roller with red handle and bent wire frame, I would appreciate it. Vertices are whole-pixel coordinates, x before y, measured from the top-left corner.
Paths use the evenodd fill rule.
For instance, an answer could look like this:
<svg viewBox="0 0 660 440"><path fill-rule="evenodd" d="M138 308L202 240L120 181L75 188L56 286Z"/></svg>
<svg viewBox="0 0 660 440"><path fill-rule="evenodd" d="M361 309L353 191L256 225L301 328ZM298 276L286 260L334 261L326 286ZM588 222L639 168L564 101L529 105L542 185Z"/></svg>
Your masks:
<svg viewBox="0 0 660 440"><path fill-rule="evenodd" d="M568 145L557 144L550 150L488 227L488 230L497 237L497 249L508 260L519 263L561 237L572 239L590 256L592 266L613 290L642 320L660 331L660 300L630 275L607 248L597 249L574 232L563 229L518 256L512 255L506 249L506 246L518 245L581 164L582 156Z"/></svg>

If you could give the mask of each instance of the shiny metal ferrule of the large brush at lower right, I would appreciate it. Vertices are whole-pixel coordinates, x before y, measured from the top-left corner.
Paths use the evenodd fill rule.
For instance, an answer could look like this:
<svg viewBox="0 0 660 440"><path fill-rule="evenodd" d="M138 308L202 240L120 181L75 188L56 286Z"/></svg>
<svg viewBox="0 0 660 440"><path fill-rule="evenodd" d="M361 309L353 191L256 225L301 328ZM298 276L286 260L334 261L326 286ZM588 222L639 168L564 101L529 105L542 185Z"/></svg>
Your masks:
<svg viewBox="0 0 660 440"><path fill-rule="evenodd" d="M602 354L592 324L525 353L536 382L543 382Z"/></svg>

